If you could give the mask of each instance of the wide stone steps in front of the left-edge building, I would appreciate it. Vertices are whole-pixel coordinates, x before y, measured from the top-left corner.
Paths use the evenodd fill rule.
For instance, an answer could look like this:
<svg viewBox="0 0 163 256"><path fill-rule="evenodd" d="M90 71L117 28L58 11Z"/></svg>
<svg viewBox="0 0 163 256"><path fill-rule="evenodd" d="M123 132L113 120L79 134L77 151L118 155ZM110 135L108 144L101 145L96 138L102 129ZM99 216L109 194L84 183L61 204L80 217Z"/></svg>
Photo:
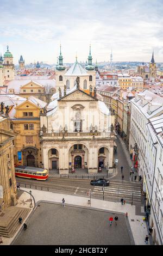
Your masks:
<svg viewBox="0 0 163 256"><path fill-rule="evenodd" d="M0 212L0 235L4 237L12 237L20 228L18 218L22 217L22 223L29 214L30 209L10 206L3 212Z"/></svg>

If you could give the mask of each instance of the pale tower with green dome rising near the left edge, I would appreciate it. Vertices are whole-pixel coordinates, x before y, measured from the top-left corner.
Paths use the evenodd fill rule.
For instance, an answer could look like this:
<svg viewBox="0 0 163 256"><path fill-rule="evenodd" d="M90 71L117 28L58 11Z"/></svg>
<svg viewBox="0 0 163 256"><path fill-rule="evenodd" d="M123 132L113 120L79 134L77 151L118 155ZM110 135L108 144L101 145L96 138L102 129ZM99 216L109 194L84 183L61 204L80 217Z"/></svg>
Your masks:
<svg viewBox="0 0 163 256"><path fill-rule="evenodd" d="M7 46L7 51L4 53L4 80L10 81L14 80L14 64L13 64L13 56L9 51L9 46Z"/></svg>

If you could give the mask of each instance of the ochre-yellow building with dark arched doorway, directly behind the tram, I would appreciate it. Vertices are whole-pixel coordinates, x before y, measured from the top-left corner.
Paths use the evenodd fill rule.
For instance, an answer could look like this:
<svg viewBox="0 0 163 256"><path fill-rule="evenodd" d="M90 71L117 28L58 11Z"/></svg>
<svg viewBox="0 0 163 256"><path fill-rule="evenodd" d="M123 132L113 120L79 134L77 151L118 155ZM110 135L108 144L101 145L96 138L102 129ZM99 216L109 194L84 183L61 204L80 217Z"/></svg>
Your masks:
<svg viewBox="0 0 163 256"><path fill-rule="evenodd" d="M14 161L25 166L42 167L40 145L40 113L46 113L47 103L33 96L15 107L11 128L14 140Z"/></svg>

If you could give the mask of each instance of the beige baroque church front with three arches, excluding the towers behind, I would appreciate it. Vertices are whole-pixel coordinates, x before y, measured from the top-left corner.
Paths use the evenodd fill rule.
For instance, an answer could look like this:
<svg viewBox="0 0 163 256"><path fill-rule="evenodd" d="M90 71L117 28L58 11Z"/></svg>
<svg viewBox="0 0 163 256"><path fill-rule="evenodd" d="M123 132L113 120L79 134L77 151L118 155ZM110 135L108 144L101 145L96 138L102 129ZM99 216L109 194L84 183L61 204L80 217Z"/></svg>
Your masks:
<svg viewBox="0 0 163 256"><path fill-rule="evenodd" d="M43 165L47 169L87 169L97 173L98 167L112 168L114 116L103 101L83 90L64 92L42 115L41 141Z"/></svg>

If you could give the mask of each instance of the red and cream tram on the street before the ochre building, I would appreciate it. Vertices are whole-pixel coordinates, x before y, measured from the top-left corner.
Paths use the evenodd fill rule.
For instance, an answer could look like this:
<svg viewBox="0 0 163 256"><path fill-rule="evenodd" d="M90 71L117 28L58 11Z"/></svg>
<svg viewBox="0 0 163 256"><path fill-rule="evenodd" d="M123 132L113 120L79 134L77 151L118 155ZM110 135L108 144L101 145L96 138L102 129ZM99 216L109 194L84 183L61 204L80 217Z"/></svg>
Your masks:
<svg viewBox="0 0 163 256"><path fill-rule="evenodd" d="M36 180L47 180L48 170L29 166L16 166L15 176Z"/></svg>

